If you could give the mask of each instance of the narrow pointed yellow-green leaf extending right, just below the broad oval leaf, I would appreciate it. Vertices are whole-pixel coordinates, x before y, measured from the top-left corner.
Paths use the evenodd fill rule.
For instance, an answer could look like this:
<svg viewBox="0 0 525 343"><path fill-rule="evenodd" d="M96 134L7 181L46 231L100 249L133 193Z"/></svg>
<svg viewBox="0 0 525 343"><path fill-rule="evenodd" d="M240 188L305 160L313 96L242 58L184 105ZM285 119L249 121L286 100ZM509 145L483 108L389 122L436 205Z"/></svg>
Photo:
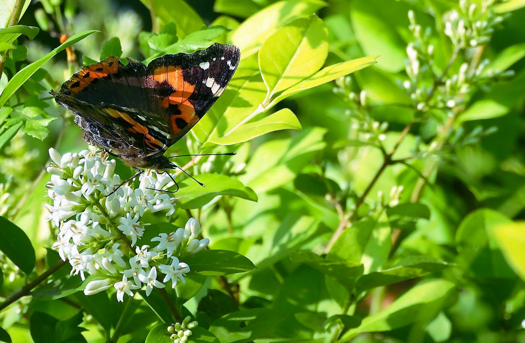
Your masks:
<svg viewBox="0 0 525 343"><path fill-rule="evenodd" d="M354 71L358 71L363 68L372 66L376 63L375 61L376 58L377 58L376 56L362 57L362 58L358 58L355 60L341 62L335 65L325 67L319 70L317 73L313 74L312 76L302 80L301 82L294 85L293 87L290 87L287 90L283 91L282 93L278 94L277 97L271 101L270 105L267 106L267 108L271 108L272 106L277 104L279 101L290 97L290 95L293 95L298 92L302 92L304 90L307 90L313 87L317 87L318 85L333 81L342 76L353 73Z"/></svg>

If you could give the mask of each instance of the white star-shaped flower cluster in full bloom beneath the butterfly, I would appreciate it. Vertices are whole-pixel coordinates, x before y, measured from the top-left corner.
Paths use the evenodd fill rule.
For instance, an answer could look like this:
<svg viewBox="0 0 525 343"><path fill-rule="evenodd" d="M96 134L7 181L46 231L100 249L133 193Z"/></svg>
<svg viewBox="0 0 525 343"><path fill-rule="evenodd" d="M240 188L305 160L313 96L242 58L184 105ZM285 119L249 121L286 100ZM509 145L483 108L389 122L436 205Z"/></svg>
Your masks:
<svg viewBox="0 0 525 343"><path fill-rule="evenodd" d="M49 155L54 162L47 168L51 174L48 196L49 219L59 227L53 248L60 258L69 260L71 274L85 273L96 280L86 285L86 295L96 294L110 287L117 290L117 298L133 296L132 290L145 286L146 295L154 287L164 288L171 280L185 282L190 267L179 261L180 256L194 254L206 248L209 240L198 240L201 226L196 219L187 221L185 228L160 233L151 242L158 244L135 246L144 233L140 222L146 212L175 211L176 199L158 189L166 186L167 175L142 174L138 188L120 185L120 177L113 174L115 161L107 154L82 151L60 154L53 148ZM120 187L119 187L120 186ZM118 189L117 189L118 187ZM162 282L157 273L164 275Z"/></svg>

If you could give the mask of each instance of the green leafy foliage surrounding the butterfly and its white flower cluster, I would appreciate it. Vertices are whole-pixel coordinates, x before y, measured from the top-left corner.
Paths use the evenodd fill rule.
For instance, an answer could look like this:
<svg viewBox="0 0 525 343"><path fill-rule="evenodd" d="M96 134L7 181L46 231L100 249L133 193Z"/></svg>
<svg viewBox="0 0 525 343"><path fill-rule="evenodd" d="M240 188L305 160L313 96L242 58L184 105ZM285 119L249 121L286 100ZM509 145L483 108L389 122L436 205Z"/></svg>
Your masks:
<svg viewBox="0 0 525 343"><path fill-rule="evenodd" d="M22 3L0 4L2 301L58 260L48 148L87 146L48 91L223 42L232 82L166 153L237 153L177 176L173 223L212 241L173 294L193 341L525 341L523 1L41 0L13 25ZM170 341L162 299L87 297L67 268L0 307L0 341Z"/></svg>

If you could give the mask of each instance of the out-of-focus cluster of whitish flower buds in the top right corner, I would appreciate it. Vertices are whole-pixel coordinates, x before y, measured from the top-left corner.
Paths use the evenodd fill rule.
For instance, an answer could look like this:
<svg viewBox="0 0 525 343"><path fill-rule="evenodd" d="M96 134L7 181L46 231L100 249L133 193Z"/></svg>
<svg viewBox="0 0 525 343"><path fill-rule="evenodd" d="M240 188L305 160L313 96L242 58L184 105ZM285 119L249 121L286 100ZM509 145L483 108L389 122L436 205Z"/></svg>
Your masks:
<svg viewBox="0 0 525 343"><path fill-rule="evenodd" d="M488 70L488 60L482 60L472 68L472 53L465 53L467 60L459 65L457 72L453 72L458 64L453 65L453 62L461 56L459 52L487 43L494 28L505 18L495 16L493 5L493 0L485 0L480 4L469 4L461 0L458 10L451 10L444 15L444 34L450 38L455 53L443 75L441 73L444 71L436 72L440 68L434 67L432 30L429 27L423 30L416 23L414 12L408 11L409 29L414 35L414 41L406 48L408 58L405 70L408 80L401 83L419 112L442 109L452 115L458 105L468 102L475 86L484 88L485 83L495 78L513 75L510 70ZM439 85L436 86L435 80L439 81Z"/></svg>

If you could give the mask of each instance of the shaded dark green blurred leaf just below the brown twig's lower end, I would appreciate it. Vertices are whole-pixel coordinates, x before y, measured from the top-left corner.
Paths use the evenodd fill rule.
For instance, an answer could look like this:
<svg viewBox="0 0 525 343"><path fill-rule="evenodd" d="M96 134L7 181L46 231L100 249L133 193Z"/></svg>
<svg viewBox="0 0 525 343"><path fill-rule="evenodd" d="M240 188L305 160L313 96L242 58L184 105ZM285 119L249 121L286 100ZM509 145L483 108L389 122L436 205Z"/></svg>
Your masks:
<svg viewBox="0 0 525 343"><path fill-rule="evenodd" d="M304 263L321 273L335 278L348 290L353 290L358 277L363 275L363 265L351 261L333 261L321 258L309 251L298 251L290 254L292 262Z"/></svg>

